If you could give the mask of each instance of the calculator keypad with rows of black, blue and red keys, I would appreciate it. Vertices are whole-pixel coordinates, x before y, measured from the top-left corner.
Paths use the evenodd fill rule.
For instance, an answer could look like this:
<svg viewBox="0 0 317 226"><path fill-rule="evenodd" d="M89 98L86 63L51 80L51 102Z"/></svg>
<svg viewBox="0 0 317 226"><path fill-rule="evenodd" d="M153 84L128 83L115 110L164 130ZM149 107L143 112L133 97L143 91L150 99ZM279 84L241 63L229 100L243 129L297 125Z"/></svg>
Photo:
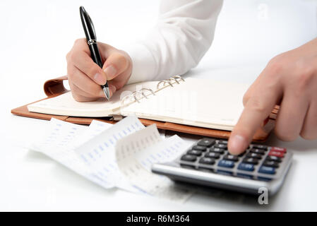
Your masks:
<svg viewBox="0 0 317 226"><path fill-rule="evenodd" d="M280 169L286 153L285 148L251 144L244 153L231 155L227 141L203 138L187 150L179 162L193 169L270 181Z"/></svg>

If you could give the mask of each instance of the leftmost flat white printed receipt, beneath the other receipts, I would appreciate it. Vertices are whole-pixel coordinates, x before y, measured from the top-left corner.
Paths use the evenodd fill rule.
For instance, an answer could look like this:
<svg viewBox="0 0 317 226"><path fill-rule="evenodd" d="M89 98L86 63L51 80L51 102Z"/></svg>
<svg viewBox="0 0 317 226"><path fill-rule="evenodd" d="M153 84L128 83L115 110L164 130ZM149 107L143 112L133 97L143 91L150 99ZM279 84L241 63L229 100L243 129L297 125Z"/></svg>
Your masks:
<svg viewBox="0 0 317 226"><path fill-rule="evenodd" d="M76 146L84 143L92 136L95 136L95 134L109 129L110 126L112 124L101 121L92 121L89 127L78 126L52 118L49 122L47 133L44 134L44 137L40 141L33 143L30 150L43 153L86 179L104 188L110 188L112 184L90 172L89 167L74 152Z"/></svg>

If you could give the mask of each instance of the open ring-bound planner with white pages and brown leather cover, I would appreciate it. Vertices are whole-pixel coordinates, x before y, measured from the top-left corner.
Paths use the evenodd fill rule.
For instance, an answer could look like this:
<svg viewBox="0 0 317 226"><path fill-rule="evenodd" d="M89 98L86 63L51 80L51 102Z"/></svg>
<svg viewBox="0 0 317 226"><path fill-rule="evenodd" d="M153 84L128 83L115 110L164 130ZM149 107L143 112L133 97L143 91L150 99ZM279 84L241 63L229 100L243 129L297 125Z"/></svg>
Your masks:
<svg viewBox="0 0 317 226"><path fill-rule="evenodd" d="M76 102L64 88L64 79L47 81L47 99L13 109L12 113L41 119L58 116L79 124L136 115L143 124L155 123L159 129L228 138L243 110L242 98L248 88L240 83L174 76L165 81L126 85L109 101ZM263 127L253 141L264 141L272 128L272 124Z"/></svg>

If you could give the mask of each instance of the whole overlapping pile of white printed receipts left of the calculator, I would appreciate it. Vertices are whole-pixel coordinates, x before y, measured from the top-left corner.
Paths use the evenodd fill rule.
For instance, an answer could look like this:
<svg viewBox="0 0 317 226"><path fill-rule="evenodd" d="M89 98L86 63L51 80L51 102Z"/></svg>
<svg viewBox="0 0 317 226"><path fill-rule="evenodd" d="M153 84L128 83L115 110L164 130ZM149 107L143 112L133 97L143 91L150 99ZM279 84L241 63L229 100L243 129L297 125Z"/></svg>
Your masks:
<svg viewBox="0 0 317 226"><path fill-rule="evenodd" d="M112 125L92 121L78 126L50 121L44 138L30 148L51 157L105 189L114 186L138 194L185 201L191 192L150 171L156 162L169 162L188 145L178 136L163 139L155 125L145 128L136 117Z"/></svg>

